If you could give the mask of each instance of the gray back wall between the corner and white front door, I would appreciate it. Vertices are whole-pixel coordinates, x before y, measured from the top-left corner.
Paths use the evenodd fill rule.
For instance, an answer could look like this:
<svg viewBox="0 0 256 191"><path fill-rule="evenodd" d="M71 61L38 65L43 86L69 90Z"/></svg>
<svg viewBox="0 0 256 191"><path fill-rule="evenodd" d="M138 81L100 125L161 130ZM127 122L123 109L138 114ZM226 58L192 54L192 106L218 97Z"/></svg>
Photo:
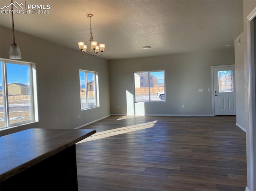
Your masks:
<svg viewBox="0 0 256 191"><path fill-rule="evenodd" d="M211 66L235 64L235 61L234 49L222 49L110 60L109 63L111 114L129 114L131 108L135 108L135 114L141 114L140 108L145 115L212 115ZM133 106L132 72L154 70L165 70L166 102ZM200 93L198 89L204 91Z"/></svg>

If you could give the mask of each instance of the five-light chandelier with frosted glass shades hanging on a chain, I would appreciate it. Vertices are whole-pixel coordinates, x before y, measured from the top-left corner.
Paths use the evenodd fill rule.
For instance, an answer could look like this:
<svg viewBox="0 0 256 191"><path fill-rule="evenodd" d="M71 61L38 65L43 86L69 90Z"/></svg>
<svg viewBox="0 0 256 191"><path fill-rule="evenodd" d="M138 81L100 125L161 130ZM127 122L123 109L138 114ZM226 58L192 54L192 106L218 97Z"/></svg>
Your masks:
<svg viewBox="0 0 256 191"><path fill-rule="evenodd" d="M91 17L93 16L93 14L87 14L86 16L88 16L90 19L90 39L89 39L90 48L89 48L89 52L86 53L87 45L85 45L84 42L78 42L78 47L81 50L82 54L85 56L88 56L89 54L91 54L93 56L100 56L100 55L102 55L102 52L105 49L105 44L98 45L98 42L93 40L92 26L91 26ZM99 51L101 51L101 53L98 54Z"/></svg>

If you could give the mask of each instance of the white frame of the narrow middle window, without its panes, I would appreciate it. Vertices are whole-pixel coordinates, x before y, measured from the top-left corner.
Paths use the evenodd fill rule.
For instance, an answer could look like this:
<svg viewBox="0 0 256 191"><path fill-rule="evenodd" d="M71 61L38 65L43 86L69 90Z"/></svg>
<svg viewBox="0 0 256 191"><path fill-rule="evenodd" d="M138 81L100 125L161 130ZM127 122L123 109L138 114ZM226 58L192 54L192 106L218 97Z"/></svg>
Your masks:
<svg viewBox="0 0 256 191"><path fill-rule="evenodd" d="M80 85L80 71L85 73L85 93L86 93L86 106L87 106L86 108L82 108L81 94L80 94L80 109L81 109L81 111L99 107L100 102L99 102L99 88L98 88L98 72L79 69L79 85ZM95 95L94 95L95 96L95 105L94 106L89 105L88 92L90 91L90 86L91 85L89 85L89 89L88 89L87 73L93 73L94 74L94 93L95 93ZM92 90L93 90L93 88L92 88Z"/></svg>

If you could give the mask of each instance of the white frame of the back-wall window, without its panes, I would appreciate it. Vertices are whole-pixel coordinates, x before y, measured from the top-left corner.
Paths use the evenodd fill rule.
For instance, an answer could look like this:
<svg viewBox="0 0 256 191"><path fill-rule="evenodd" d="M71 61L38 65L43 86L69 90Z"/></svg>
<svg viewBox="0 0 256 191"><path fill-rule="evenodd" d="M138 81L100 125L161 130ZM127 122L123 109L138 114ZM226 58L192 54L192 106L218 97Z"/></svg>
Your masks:
<svg viewBox="0 0 256 191"><path fill-rule="evenodd" d="M144 73L144 72L148 72L148 85L146 86L146 88L148 88L148 101L136 101L136 95L135 95L135 78L134 78L134 74L135 73ZM164 73L164 95L165 95L165 100L163 101L163 100L161 100L161 101L159 101L159 100L151 100L151 98L150 98L150 87L151 86L149 86L150 85L150 73L153 73L153 72L163 72ZM139 78L139 79L141 79L141 77ZM139 102L166 102L166 91L165 91L165 70L152 70L152 71L136 71L136 72L132 72L132 80L133 80L133 92L134 92L134 103L139 103ZM152 80L154 80L153 78L152 78ZM151 80L151 81L152 81Z"/></svg>

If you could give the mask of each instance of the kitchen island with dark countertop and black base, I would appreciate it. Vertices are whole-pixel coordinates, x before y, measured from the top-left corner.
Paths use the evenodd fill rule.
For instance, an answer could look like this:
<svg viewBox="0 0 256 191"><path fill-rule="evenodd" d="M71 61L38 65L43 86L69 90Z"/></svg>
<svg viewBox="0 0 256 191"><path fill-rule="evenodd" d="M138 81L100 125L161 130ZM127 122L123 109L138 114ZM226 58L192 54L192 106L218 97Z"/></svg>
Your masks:
<svg viewBox="0 0 256 191"><path fill-rule="evenodd" d="M0 137L0 190L78 190L76 143L93 129L27 129Z"/></svg>

